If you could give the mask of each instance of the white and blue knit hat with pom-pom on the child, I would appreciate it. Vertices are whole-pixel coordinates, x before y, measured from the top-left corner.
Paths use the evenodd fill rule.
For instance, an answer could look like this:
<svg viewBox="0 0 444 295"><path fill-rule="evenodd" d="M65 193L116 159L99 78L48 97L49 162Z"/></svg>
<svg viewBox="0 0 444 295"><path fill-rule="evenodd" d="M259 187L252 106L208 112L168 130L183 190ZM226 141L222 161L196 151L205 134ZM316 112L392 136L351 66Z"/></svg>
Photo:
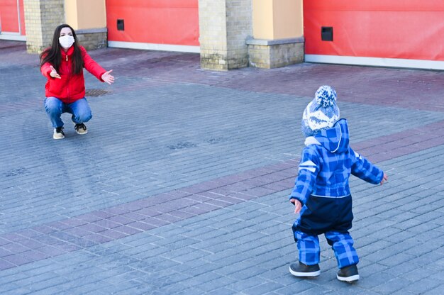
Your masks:
<svg viewBox="0 0 444 295"><path fill-rule="evenodd" d="M316 135L321 130L332 128L339 120L335 89L324 85L319 87L302 115L302 132L306 137Z"/></svg>

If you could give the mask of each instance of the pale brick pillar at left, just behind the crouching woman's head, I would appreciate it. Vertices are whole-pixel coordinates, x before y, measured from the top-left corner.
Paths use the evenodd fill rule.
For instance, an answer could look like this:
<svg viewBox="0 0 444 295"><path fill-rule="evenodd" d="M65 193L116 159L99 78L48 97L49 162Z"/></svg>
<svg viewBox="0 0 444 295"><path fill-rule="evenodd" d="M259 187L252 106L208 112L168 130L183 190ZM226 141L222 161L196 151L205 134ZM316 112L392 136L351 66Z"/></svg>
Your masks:
<svg viewBox="0 0 444 295"><path fill-rule="evenodd" d="M52 43L55 27L65 23L65 0L23 0L26 49L41 52Z"/></svg>

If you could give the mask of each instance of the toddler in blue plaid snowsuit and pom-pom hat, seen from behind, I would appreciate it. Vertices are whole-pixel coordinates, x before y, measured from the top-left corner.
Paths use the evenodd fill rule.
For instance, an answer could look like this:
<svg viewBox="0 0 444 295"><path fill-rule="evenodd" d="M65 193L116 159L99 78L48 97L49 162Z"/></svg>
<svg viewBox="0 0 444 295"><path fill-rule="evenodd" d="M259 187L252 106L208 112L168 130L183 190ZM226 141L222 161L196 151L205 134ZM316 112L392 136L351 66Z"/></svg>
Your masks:
<svg viewBox="0 0 444 295"><path fill-rule="evenodd" d="M348 233L353 220L348 178L353 174L366 182L383 184L387 175L349 146L347 121L339 120L333 88L322 86L316 91L302 116L302 131L306 147L289 197L294 213L300 213L292 227L299 263L290 265L290 273L295 277L321 274L318 235L323 233L338 261L336 277L343 282L357 281L359 260Z"/></svg>

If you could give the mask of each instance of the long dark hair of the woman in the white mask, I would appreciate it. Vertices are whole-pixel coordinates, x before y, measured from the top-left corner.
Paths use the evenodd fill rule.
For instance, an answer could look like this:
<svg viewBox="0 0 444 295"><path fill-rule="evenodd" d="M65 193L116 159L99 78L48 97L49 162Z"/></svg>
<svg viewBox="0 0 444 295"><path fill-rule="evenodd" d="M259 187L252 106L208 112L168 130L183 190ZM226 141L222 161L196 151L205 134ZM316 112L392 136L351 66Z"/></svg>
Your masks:
<svg viewBox="0 0 444 295"><path fill-rule="evenodd" d="M70 28L72 31L72 37L74 37L74 44L72 45L74 47L74 53L72 54L72 72L74 72L74 74L79 74L83 71L82 52L80 52L79 42L74 29L66 23L55 28L51 47L46 48L40 53L40 67L42 67L45 62L50 62L52 67L54 67L57 72L59 71L60 64L62 63L62 48L59 44L60 31L62 28Z"/></svg>

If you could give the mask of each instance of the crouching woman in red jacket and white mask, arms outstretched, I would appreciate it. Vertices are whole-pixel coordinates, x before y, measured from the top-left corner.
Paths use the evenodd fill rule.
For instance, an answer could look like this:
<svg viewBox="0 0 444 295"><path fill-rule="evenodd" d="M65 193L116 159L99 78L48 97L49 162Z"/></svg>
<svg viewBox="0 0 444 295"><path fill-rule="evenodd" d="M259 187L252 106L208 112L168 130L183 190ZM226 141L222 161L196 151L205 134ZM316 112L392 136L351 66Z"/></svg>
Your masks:
<svg viewBox="0 0 444 295"><path fill-rule="evenodd" d="M74 30L67 24L55 28L52 45L40 54L40 70L48 78L45 85L45 111L50 117L52 138L65 138L62 113L71 113L78 134L88 132L85 122L91 119L91 108L85 99L83 68L101 82L112 84L112 69L106 72L79 45Z"/></svg>

